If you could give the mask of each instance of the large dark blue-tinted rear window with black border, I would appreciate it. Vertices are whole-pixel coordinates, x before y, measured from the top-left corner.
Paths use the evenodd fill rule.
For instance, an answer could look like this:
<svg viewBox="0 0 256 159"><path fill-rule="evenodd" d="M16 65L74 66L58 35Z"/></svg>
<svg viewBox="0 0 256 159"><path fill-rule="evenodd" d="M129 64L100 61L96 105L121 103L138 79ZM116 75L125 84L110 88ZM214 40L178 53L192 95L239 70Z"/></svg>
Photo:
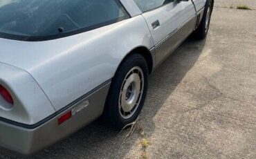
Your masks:
<svg viewBox="0 0 256 159"><path fill-rule="evenodd" d="M0 0L0 37L55 39L127 17L116 0Z"/></svg>

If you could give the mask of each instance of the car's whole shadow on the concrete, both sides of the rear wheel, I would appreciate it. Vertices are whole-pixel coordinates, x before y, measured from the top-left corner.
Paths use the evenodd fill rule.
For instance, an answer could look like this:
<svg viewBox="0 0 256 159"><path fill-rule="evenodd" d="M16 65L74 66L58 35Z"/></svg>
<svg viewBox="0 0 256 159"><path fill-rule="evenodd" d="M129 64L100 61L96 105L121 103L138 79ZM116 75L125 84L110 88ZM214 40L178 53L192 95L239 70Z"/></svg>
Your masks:
<svg viewBox="0 0 256 159"><path fill-rule="evenodd" d="M154 117L194 66L204 46L205 40L195 41L188 38L150 75L148 95L140 115L140 122L147 136L154 133ZM118 133L106 126L104 121L97 120L33 156L20 156L0 149L0 158L124 158L141 138L134 133L123 144L128 131Z"/></svg>

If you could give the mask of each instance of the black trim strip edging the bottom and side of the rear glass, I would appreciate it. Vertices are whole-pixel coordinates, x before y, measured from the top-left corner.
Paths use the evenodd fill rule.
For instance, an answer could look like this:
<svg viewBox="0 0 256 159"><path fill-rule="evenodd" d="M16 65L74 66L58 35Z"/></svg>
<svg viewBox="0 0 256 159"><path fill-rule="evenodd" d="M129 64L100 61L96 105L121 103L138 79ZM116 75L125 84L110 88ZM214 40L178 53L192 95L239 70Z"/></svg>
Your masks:
<svg viewBox="0 0 256 159"><path fill-rule="evenodd" d="M131 15L129 15L129 12L127 12L125 7L122 6L120 1L118 1L118 0L115 0L115 1L116 1L117 5L120 7L120 9L122 10L122 12L125 13L125 16L119 17L117 19L113 19L113 20L110 20L110 21L105 21L105 22L100 23L100 24L95 24L93 26L89 26L89 27L86 27L86 28L80 28L80 29L77 29L77 30L72 30L72 31L69 31L69 32L60 33L58 35L34 36L33 37L33 36L24 36L24 35L12 35L12 34L8 34L8 33L0 32L0 37L4 38L4 39L13 39L13 40L19 40L19 41L48 41L48 40L51 40L51 39L60 39L60 38L68 37L68 36L71 36L71 35L77 35L77 34L82 33L82 32L87 32L89 30L94 30L96 28L101 28L103 26L108 26L110 24L115 24L119 21L131 18Z"/></svg>

